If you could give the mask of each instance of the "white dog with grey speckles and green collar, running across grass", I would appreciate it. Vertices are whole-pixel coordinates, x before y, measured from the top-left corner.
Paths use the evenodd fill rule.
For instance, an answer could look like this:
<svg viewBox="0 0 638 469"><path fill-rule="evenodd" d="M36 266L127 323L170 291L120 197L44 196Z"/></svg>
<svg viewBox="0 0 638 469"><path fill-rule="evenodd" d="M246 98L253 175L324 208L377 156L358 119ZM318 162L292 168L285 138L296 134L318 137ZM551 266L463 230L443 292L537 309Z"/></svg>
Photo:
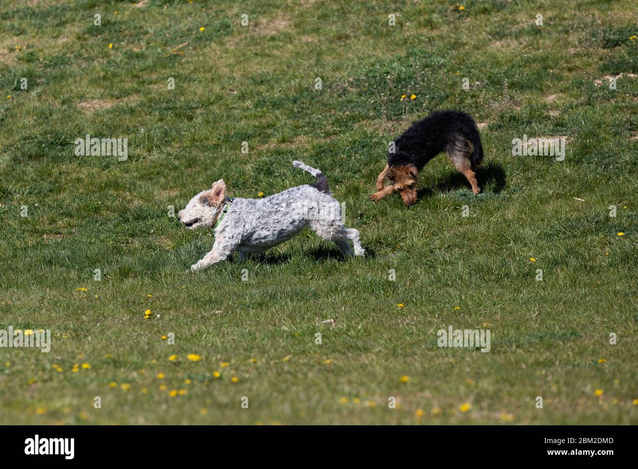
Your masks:
<svg viewBox="0 0 638 469"><path fill-rule="evenodd" d="M288 241L304 227L310 227L326 241L334 241L345 255L353 253L348 240L352 241L355 256L365 254L359 231L346 228L341 222L339 202L330 195L325 175L301 161L292 164L315 176L315 184L297 186L262 199L230 199L226 197L226 184L219 179L211 189L191 198L177 219L191 230L212 227L215 232L212 251L191 265L191 271L224 260L233 251L239 251L239 259L246 260L248 253L262 252Z"/></svg>

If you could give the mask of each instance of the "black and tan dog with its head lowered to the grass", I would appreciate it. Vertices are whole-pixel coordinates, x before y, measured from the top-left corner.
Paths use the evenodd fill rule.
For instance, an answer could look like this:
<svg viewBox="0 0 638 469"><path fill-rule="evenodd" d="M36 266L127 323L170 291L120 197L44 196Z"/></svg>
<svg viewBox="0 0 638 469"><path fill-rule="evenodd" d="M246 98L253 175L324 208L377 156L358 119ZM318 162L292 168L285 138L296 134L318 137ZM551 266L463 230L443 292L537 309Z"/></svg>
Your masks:
<svg viewBox="0 0 638 469"><path fill-rule="evenodd" d="M474 169L483 161L479 129L470 114L455 110L433 112L417 121L394 140L388 152L388 164L376 179L378 192L370 196L375 202L399 191L406 205L417 201L419 171L437 154L447 157L468 179L473 193L480 191ZM390 185L384 187L385 178Z"/></svg>

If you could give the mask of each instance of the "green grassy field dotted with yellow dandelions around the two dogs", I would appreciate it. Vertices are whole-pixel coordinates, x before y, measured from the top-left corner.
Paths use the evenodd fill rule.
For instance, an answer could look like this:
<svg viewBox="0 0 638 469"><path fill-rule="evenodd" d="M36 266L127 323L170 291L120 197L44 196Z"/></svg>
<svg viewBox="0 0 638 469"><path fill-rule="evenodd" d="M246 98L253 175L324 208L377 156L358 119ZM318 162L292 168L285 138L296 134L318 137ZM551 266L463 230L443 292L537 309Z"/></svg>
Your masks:
<svg viewBox="0 0 638 469"><path fill-rule="evenodd" d="M635 1L1 6L0 329L52 332L0 348L1 423L638 423ZM480 124L482 193L439 156L417 204L368 200L441 108ZM128 160L76 156L86 134ZM524 135L565 160L512 156ZM303 232L188 272L213 238L168 206L312 182L295 159L369 255ZM439 348L449 325L490 352Z"/></svg>

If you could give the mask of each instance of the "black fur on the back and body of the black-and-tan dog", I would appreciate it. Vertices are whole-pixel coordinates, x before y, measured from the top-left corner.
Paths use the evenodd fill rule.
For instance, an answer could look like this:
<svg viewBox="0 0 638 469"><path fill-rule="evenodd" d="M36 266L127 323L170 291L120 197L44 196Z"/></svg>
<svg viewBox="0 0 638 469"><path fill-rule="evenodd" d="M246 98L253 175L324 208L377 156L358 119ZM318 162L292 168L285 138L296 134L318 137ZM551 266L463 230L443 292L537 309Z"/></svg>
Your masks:
<svg viewBox="0 0 638 469"><path fill-rule="evenodd" d="M483 146L477 125L466 112L436 111L417 121L394 140L394 153L388 153L388 165L413 164L419 170L442 151L452 151L463 140L471 144L470 163L476 167L483 160Z"/></svg>

